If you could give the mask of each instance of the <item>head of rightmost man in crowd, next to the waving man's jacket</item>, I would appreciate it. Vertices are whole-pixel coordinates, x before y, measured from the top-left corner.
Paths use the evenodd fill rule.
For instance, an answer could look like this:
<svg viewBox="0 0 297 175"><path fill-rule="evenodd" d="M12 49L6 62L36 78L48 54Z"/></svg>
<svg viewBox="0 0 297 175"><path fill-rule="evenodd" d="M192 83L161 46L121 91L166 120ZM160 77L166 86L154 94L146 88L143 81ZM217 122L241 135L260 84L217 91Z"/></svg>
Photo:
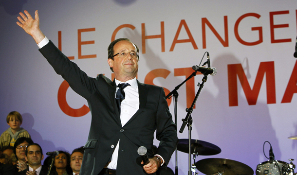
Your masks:
<svg viewBox="0 0 297 175"><path fill-rule="evenodd" d="M76 148L72 151L72 154L70 156L70 166L71 166L73 175L79 175L83 156L84 156L83 146Z"/></svg>

